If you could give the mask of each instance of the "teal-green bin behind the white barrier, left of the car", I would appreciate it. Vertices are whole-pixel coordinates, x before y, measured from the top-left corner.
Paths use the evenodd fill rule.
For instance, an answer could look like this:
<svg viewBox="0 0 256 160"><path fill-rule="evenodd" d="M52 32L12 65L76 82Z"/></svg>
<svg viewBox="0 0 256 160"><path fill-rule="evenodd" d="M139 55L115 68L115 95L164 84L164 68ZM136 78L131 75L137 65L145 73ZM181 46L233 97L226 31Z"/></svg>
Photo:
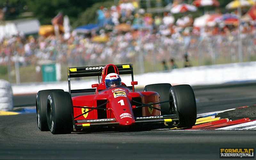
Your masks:
<svg viewBox="0 0 256 160"><path fill-rule="evenodd" d="M55 64L42 65L42 77L43 77L43 82L57 81L56 65Z"/></svg>

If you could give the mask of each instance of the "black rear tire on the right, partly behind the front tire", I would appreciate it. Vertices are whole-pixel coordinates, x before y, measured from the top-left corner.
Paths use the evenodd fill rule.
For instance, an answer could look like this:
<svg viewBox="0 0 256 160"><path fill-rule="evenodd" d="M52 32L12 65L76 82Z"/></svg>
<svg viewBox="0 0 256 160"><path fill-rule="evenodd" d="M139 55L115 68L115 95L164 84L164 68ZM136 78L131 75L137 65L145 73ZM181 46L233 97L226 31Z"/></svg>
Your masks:
<svg viewBox="0 0 256 160"><path fill-rule="evenodd" d="M172 87L169 83L160 84L149 84L146 85L144 91L157 92L160 95L160 102L169 100L169 91ZM170 115L170 105L168 102L160 104L161 109L166 111L161 111L161 115Z"/></svg>

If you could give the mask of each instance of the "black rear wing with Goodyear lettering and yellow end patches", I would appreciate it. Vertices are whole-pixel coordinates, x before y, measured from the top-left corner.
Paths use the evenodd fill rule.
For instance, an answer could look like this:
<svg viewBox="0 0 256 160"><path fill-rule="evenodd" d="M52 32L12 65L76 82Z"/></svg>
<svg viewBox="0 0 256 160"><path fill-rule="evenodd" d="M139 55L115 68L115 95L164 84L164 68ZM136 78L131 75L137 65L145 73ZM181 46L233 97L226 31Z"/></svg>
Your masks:
<svg viewBox="0 0 256 160"><path fill-rule="evenodd" d="M71 67L68 69L68 90L69 93L81 93L81 92L95 92L95 88L91 89L70 89L70 78L76 77L91 77L98 76L98 81L100 83L100 76L102 75L102 70L105 66L89 66L89 67ZM116 65L119 75L131 74L133 81L133 65L132 64L120 64ZM132 88L132 86L129 86Z"/></svg>

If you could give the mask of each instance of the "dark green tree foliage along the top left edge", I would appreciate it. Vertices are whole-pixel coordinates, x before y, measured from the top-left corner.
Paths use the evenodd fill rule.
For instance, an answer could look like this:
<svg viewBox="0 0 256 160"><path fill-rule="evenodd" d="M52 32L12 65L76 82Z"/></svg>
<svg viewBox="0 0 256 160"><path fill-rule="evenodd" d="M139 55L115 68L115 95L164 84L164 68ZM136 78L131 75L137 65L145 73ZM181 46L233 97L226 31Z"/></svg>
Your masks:
<svg viewBox="0 0 256 160"><path fill-rule="evenodd" d="M22 12L33 12L33 17L38 18L41 25L51 24L52 18L62 11L64 15L68 15L70 24L72 25L75 22L77 23L77 18L84 15L83 13L94 4L98 3L96 6L99 6L109 1L110 0L0 0L0 9L6 6L11 8L12 6L18 5L19 7L16 7L15 14L9 16L8 20L20 18L19 15ZM111 0L111 2L114 4L113 0ZM93 21L93 18L89 18L89 21L87 18L89 15L93 15L92 12L89 12L89 14L85 16L84 20L86 22Z"/></svg>

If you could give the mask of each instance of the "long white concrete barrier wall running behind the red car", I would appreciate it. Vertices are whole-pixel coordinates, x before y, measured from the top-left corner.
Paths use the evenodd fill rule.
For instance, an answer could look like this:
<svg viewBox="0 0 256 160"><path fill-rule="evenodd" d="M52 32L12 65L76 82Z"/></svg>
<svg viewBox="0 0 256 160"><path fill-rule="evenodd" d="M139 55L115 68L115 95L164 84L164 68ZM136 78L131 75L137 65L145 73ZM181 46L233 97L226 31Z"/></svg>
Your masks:
<svg viewBox="0 0 256 160"><path fill-rule="evenodd" d="M134 66L136 67L136 66ZM122 82L131 85L131 76L121 75ZM169 71L151 72L134 75L138 81L135 87L148 84L170 83L193 85L211 85L243 81L256 81L256 62L231 63L211 66L177 68ZM98 79L72 81L71 89L90 88ZM36 94L44 89L63 89L68 91L68 80L52 83L12 84L13 94Z"/></svg>

